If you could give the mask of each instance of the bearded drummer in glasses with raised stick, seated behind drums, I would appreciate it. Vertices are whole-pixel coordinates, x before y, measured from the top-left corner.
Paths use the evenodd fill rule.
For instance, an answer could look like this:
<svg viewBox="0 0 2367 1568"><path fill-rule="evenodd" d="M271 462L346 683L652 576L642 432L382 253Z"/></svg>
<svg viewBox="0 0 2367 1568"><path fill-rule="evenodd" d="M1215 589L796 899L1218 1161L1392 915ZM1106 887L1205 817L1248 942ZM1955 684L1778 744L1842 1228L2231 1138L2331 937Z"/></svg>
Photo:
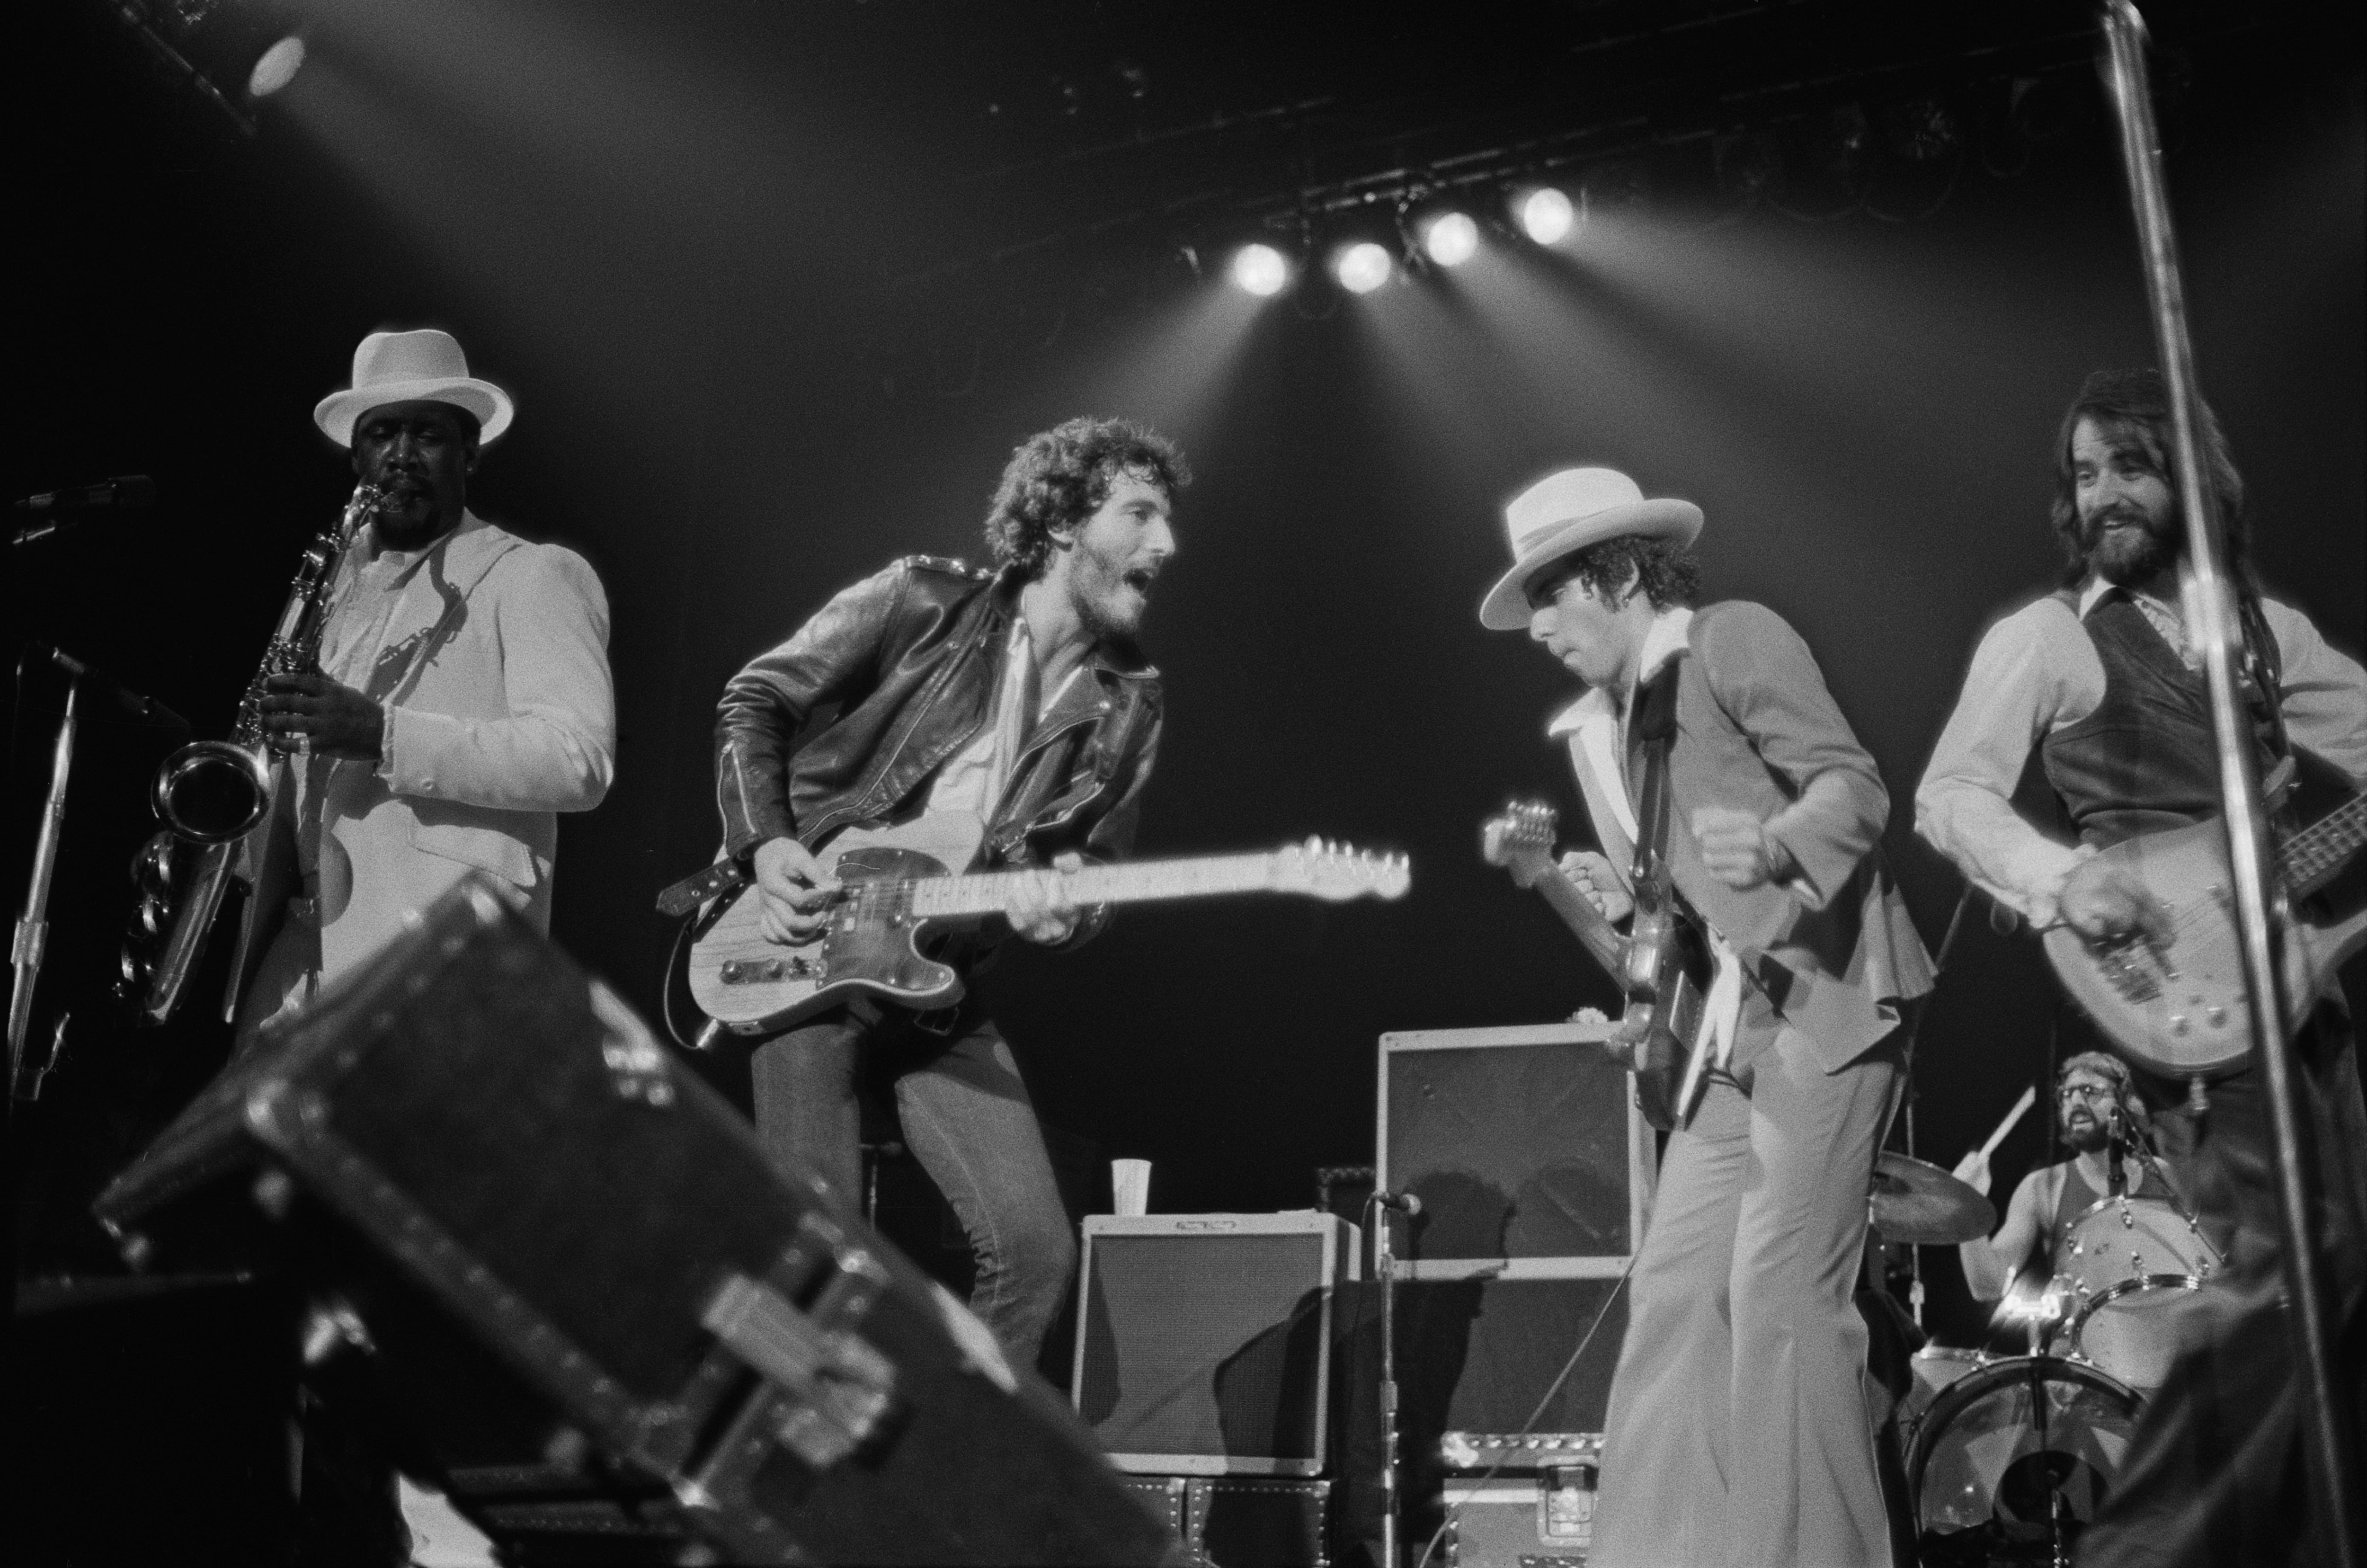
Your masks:
<svg viewBox="0 0 2367 1568"><path fill-rule="evenodd" d="M2128 1068L2116 1056L2081 1052L2066 1061L2055 1075L2055 1118L2064 1144L2073 1151L2071 1158L2021 1177L1998 1234L1986 1241L1974 1236L1955 1248L1974 1300L1998 1300L2026 1270L2040 1279L2062 1274L2071 1227L2097 1199L2171 1196L2154 1175L2159 1165L2149 1168L2137 1156L2140 1142L2149 1139L2149 1123L2145 1101L2137 1099ZM2111 1170L2114 1153L2121 1156L2118 1182ZM1979 1149L1958 1161L1955 1175L1988 1196L1988 1156ZM2038 1251L2040 1244L2045 1253Z"/></svg>

